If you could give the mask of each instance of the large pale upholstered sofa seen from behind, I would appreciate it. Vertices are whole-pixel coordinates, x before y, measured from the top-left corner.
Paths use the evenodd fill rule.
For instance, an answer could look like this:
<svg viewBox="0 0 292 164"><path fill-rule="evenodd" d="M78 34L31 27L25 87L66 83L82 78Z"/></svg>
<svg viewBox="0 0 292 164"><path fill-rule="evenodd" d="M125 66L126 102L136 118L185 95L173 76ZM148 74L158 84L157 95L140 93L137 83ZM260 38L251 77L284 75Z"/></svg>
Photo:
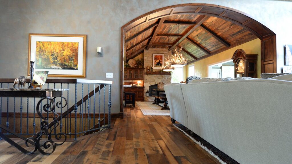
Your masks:
<svg viewBox="0 0 292 164"><path fill-rule="evenodd" d="M164 89L171 118L237 162L292 162L291 81L231 80Z"/></svg>

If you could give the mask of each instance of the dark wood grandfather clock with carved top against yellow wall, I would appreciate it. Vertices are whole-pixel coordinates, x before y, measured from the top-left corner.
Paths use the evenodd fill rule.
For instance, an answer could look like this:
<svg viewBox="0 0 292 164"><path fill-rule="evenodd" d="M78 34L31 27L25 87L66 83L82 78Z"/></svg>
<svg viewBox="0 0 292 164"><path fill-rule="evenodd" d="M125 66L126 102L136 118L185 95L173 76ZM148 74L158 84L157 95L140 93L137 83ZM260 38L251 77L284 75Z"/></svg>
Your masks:
<svg viewBox="0 0 292 164"><path fill-rule="evenodd" d="M232 60L234 63L234 78L252 77L257 78L256 60L258 54L246 54L244 50L238 49L234 52Z"/></svg>

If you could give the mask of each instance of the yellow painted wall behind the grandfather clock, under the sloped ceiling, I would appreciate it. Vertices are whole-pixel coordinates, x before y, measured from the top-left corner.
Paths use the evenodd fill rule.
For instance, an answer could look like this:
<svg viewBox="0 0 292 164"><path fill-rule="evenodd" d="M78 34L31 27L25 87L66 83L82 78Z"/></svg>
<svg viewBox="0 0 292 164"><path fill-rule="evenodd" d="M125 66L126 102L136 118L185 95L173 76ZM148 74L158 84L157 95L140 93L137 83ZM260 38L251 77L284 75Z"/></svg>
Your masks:
<svg viewBox="0 0 292 164"><path fill-rule="evenodd" d="M260 39L254 39L247 43L195 62L195 76L201 78L208 77L208 65L220 63L221 61L227 59L231 60L233 53L237 49L243 49L246 54L258 54L257 76L260 78Z"/></svg>

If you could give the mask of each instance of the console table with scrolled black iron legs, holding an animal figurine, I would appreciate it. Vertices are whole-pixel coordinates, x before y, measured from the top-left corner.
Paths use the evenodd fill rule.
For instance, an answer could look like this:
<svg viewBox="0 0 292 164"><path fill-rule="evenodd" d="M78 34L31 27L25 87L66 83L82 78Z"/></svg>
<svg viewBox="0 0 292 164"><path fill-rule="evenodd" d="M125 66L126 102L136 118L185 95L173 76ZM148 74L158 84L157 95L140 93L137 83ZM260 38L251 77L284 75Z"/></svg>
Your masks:
<svg viewBox="0 0 292 164"><path fill-rule="evenodd" d="M3 125L0 125L0 128L11 133L12 135L22 139L25 141L25 144L28 146L27 143L30 143L32 145L34 145L34 150L33 151L27 151L26 149L24 149L22 146L20 146L19 144L17 144L16 142L14 142L13 140L11 140L10 138L8 138L6 135L4 135L2 132L0 132L0 136L7 141L9 144L15 146L19 151L21 151L22 153L25 154L32 154L34 153L36 150L39 150L39 152L41 152L44 155L50 155L51 153L53 153L55 151L56 145L61 145L66 141L66 135L65 133L58 133L56 135L56 139L61 139L62 135L65 137L64 142L57 144L55 143L52 139L51 139L51 132L54 128L56 128L59 125L59 122L57 120L57 118L59 117L59 115L57 113L55 113L55 107L60 108L60 103L61 102L55 102L55 98L56 97L61 97L61 100L65 100L65 105L63 104L62 108L65 107L67 105L67 100L65 97L62 97L62 92L66 91L69 89L10 89L10 88L0 88L0 97L41 97L42 99L39 100L39 102L36 105L36 112L39 115L39 117L44 120L41 121L41 131L37 134L34 135L32 137L29 138L25 138L21 135L18 135L17 133L13 132L13 130L10 130L8 128L6 128ZM47 100L47 101L43 101L43 100ZM45 102L43 106L41 105L41 102ZM61 103L62 104L62 103ZM46 113L52 112L55 114L55 116L53 118L53 123L55 124L54 128L52 128L51 131L48 131L48 120L47 118L45 118L44 116L42 116L40 110L44 110ZM42 137L47 136L47 141L45 141L44 143L40 144L40 140ZM43 138L45 139L45 138ZM52 152L45 152L43 149L48 149L50 146L53 146ZM42 149L43 148L43 149Z"/></svg>

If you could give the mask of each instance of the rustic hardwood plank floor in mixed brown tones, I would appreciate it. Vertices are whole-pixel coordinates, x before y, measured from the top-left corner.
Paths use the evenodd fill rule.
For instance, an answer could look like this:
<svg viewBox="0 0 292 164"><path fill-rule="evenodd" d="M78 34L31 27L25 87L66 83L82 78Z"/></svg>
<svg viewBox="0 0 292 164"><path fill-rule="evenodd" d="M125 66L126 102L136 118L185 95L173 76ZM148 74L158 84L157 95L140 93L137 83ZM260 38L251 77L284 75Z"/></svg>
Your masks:
<svg viewBox="0 0 292 164"><path fill-rule="evenodd" d="M169 116L143 115L138 105L124 109L124 119L113 119L113 128L65 142L43 156L25 155L0 141L0 164L69 163L219 163L175 128ZM19 141L19 140L18 140ZM18 143L24 145L24 142Z"/></svg>

